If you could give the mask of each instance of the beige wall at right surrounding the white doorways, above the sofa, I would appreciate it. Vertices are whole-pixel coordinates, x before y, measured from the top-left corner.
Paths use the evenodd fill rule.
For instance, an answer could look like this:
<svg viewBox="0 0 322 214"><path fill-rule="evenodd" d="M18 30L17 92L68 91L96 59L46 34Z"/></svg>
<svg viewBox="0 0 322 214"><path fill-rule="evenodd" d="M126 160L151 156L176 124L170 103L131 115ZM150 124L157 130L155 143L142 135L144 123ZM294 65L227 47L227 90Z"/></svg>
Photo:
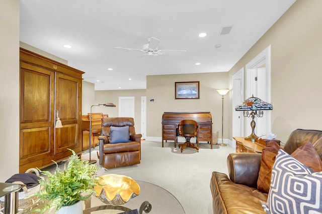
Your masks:
<svg viewBox="0 0 322 214"><path fill-rule="evenodd" d="M297 0L229 71L231 84L234 73L271 45L272 132L284 143L297 128L322 130L321 8L320 0Z"/></svg>

